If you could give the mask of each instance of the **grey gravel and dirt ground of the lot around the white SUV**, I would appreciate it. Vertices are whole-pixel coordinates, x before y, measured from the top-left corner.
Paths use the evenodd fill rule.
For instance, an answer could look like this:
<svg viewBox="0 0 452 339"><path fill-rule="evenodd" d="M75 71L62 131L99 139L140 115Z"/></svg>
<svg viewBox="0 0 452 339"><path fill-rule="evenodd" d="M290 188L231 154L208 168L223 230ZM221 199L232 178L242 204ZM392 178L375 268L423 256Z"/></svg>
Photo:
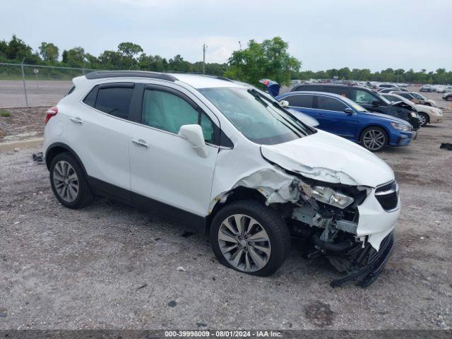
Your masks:
<svg viewBox="0 0 452 339"><path fill-rule="evenodd" d="M441 102L442 103L442 102ZM403 201L396 248L363 290L296 246L269 278L220 266L208 239L98 199L54 198L36 148L0 153L0 329L452 328L452 111L408 148L379 156ZM182 266L184 270L177 268Z"/></svg>

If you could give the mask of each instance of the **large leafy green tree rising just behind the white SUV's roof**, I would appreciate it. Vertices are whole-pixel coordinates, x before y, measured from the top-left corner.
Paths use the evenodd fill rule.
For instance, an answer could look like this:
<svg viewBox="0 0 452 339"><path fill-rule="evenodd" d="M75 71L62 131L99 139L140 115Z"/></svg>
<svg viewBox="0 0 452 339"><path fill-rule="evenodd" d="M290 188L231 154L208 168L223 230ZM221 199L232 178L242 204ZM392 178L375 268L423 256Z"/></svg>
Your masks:
<svg viewBox="0 0 452 339"><path fill-rule="evenodd" d="M259 85L262 78L288 85L291 74L299 71L301 62L290 56L287 47L287 42L280 37L262 43L250 40L246 49L232 52L228 60L230 69L225 75L254 85Z"/></svg>

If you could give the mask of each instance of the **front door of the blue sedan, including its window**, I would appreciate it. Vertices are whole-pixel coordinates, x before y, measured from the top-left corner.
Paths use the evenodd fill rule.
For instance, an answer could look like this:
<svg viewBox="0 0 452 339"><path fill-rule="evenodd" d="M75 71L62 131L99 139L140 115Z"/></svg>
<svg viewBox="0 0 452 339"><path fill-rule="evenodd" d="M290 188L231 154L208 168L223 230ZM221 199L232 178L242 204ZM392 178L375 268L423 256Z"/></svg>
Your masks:
<svg viewBox="0 0 452 339"><path fill-rule="evenodd" d="M316 97L316 119L320 122L319 127L323 131L334 133L344 138L357 138L359 122L357 114L345 113L344 110L350 107L335 97L326 95L316 95Z"/></svg>

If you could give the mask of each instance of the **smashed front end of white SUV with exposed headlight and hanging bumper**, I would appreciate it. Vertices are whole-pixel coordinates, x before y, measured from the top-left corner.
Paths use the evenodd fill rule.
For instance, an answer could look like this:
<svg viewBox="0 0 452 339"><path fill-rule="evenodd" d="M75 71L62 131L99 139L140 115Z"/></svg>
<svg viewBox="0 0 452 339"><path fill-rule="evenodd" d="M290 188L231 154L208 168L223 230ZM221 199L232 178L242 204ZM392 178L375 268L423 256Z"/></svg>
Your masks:
<svg viewBox="0 0 452 339"><path fill-rule="evenodd" d="M307 258L325 256L345 273L333 287L376 280L393 249L398 218L398 186L372 188L320 182L273 165L241 179L234 187L257 189L277 209L292 236L305 240Z"/></svg>

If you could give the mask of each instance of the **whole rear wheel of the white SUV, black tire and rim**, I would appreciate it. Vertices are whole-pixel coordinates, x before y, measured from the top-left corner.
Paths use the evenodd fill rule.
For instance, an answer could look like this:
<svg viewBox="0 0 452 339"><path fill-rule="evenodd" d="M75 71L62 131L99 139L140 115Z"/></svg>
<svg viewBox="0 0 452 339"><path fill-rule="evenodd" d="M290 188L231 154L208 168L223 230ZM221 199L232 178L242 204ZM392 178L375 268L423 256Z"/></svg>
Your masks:
<svg viewBox="0 0 452 339"><path fill-rule="evenodd" d="M85 172L69 152L59 153L50 167L50 185L61 205L67 208L83 208L93 201L94 194Z"/></svg>

